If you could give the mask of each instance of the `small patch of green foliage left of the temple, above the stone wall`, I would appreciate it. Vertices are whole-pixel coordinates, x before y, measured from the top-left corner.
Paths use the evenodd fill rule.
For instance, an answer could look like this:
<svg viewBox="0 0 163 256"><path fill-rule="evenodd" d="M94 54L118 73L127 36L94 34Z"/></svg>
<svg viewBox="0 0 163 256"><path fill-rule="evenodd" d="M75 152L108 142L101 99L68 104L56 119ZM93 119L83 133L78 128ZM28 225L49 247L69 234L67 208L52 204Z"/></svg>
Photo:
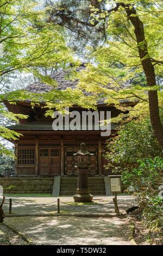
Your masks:
<svg viewBox="0 0 163 256"><path fill-rule="evenodd" d="M0 176L10 176L14 172L14 158L0 155Z"/></svg>

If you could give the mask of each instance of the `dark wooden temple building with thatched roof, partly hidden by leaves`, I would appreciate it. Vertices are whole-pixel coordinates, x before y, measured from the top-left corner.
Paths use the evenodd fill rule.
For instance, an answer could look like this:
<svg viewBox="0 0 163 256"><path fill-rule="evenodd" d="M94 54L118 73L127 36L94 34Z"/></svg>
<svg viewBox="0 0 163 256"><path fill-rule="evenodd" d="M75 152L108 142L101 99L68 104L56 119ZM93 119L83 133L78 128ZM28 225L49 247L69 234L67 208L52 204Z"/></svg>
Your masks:
<svg viewBox="0 0 163 256"><path fill-rule="evenodd" d="M52 77L58 82L58 89L64 90L67 87L75 88L77 81L65 79L64 70L56 72ZM28 92L45 93L53 87L41 82L30 84L26 87ZM20 124L8 128L21 133L21 137L12 141L15 144L15 175L16 176L45 176L55 175L74 176L77 170L74 168L73 153L79 150L80 143L84 142L91 153L91 166L89 175L108 175L109 170L105 169L105 158L103 149L108 137L101 137L101 131L77 130L77 131L54 131L53 120L45 117L43 103L31 106L29 101L18 101L15 105L4 102L10 112L26 114L28 119L20 120ZM111 111L111 116L117 116L120 111L114 106L106 106L103 101L97 105L99 111ZM78 106L73 110L82 111ZM111 125L111 135L116 131L116 125Z"/></svg>

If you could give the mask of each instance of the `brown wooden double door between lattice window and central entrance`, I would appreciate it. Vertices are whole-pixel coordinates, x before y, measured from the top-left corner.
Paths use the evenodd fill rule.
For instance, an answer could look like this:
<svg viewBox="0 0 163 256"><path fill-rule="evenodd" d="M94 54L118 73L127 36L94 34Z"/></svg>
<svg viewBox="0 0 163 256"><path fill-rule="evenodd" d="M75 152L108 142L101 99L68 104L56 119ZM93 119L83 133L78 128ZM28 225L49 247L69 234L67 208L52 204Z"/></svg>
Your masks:
<svg viewBox="0 0 163 256"><path fill-rule="evenodd" d="M60 148L39 149L39 175L60 175Z"/></svg>

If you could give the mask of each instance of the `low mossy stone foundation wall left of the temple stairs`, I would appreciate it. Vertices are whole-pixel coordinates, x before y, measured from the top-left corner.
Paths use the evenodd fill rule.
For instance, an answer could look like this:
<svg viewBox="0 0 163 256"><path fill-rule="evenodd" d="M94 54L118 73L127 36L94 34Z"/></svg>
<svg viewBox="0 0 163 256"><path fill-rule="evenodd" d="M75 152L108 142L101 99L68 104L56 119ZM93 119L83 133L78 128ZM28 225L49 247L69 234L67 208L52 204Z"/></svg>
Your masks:
<svg viewBox="0 0 163 256"><path fill-rule="evenodd" d="M0 178L0 185L3 186L4 193L17 194L52 193L53 182L54 178Z"/></svg>

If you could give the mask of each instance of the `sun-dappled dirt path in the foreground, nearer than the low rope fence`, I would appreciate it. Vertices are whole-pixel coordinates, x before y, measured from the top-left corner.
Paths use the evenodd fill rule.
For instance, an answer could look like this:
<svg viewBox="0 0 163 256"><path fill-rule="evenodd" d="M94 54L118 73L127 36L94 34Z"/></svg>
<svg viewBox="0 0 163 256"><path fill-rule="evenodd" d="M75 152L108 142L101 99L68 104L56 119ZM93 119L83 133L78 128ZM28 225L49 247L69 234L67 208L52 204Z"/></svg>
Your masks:
<svg viewBox="0 0 163 256"><path fill-rule="evenodd" d="M131 245L124 218L13 217L5 223L35 245Z"/></svg>

